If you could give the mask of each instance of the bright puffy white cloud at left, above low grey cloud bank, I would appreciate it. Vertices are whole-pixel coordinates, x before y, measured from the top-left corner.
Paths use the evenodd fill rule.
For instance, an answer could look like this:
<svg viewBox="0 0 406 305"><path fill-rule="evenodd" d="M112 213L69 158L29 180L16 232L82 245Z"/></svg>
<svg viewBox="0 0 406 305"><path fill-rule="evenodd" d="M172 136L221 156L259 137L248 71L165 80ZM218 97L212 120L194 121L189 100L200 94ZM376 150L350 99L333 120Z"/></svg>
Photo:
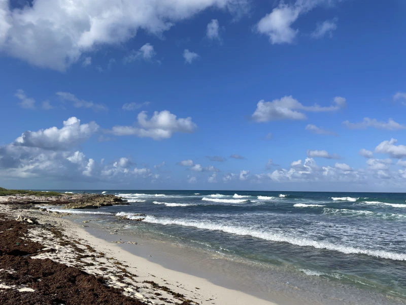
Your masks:
<svg viewBox="0 0 406 305"><path fill-rule="evenodd" d="M63 150L87 141L99 126L94 121L80 124L80 119L70 117L63 121L63 127L51 127L39 131L26 131L15 141L15 145Z"/></svg>

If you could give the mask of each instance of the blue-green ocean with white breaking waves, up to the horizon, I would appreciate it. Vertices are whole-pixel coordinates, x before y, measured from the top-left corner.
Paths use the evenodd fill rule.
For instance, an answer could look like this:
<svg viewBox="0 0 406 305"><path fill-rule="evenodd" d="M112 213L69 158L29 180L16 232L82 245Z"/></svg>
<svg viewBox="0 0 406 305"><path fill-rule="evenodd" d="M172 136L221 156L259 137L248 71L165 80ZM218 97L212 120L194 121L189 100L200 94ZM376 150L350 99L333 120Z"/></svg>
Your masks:
<svg viewBox="0 0 406 305"><path fill-rule="evenodd" d="M130 203L71 210L105 225L124 216L120 225L133 234L406 300L406 194L86 192ZM139 213L145 219L131 221Z"/></svg>

